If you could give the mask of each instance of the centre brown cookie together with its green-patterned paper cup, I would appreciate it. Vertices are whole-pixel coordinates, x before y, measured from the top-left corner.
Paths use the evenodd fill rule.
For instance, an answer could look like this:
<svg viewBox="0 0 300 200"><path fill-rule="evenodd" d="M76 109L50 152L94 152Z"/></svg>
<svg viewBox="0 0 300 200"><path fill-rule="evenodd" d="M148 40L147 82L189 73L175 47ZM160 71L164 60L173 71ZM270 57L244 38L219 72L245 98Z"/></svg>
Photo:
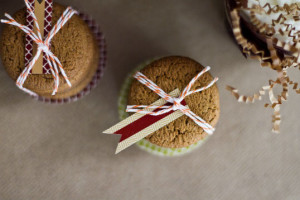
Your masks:
<svg viewBox="0 0 300 200"><path fill-rule="evenodd" d="M148 61L138 66L132 74L140 71L166 93L175 89L184 90L191 79L204 67L198 62L181 56L169 56ZM129 114L126 105L151 105L161 97L141 84L130 74L123 84L119 98L119 114L124 120ZM194 82L191 90L207 86L213 77L204 73ZM219 91L216 84L185 98L186 105L197 116L215 127L220 116ZM170 122L137 142L142 149L162 156L181 155L200 146L209 135L190 117L182 117Z"/></svg>

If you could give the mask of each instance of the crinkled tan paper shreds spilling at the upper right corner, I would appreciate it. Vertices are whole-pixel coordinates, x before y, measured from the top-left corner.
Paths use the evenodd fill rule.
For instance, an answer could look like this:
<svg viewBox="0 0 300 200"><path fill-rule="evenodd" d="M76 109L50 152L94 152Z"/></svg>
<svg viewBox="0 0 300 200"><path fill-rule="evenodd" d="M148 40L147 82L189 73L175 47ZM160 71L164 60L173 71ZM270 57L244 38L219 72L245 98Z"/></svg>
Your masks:
<svg viewBox="0 0 300 200"><path fill-rule="evenodd" d="M260 34L265 35L267 52L265 50L258 49L254 43L242 35L239 15L241 10L250 11L250 22L257 28ZM288 99L289 86L291 86L297 94L300 94L299 84L290 80L290 77L287 75L287 71L291 67L300 69L300 32L296 32L295 27L292 27L290 24L285 24L287 17L283 14L280 14L277 19L272 20L271 25L261 22L256 17L256 13L262 12L268 15L272 13L286 12L287 15L291 15L294 20L299 21L300 7L297 3L290 5L284 4L283 6L271 6L269 3L266 3L264 6L255 5L252 8L239 7L231 11L233 35L237 43L242 47L243 53L249 57L259 60L262 67L267 66L276 70L277 79L269 80L268 85L263 86L258 92L250 96L239 94L238 89L231 86L227 86L226 89L232 93L238 102L243 103L254 103L256 100L261 100L262 96L268 94L269 103L266 103L265 107L273 109L272 131L279 133L281 123L280 106ZM277 24L282 24L285 28L276 31L274 27ZM278 40L274 37L274 35L278 33L282 36L287 35L292 39L292 42L282 42ZM279 57L278 50L275 46L291 53L288 55L284 54L283 57ZM266 56L266 54L268 54L268 56ZM282 87L282 90L278 95L274 94L273 89L275 86Z"/></svg>

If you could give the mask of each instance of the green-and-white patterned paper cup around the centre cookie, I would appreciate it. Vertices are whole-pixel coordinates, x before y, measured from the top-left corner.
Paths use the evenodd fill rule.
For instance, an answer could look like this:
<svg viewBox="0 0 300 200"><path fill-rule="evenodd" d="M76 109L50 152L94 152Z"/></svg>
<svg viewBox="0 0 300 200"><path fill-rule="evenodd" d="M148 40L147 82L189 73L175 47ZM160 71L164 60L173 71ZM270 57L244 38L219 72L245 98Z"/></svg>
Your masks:
<svg viewBox="0 0 300 200"><path fill-rule="evenodd" d="M131 85L131 82L133 80L132 75L143 69L145 66L147 66L148 64L150 64L152 61L154 61L155 59L149 60L147 62L142 63L141 65L139 65L137 68L135 68L131 73L129 73L125 79L125 82L122 85L121 88L121 92L120 92L120 96L119 96L119 100L118 100L118 111L119 111L119 118L120 120L124 120L125 118L127 118L129 116L129 114L125 111L126 110L126 106L127 106L127 97L128 97L128 92L129 92L129 88ZM136 145L141 148L142 150L145 150L149 153L152 153L154 155L158 155L158 156L179 156L179 155L183 155L186 153L189 153L193 150L195 150L196 148L200 147L208 138L209 136L207 136L205 139L198 141L195 144L192 144L188 147L184 147L184 148L165 148L165 147L160 147L157 146L155 144L152 144L151 142L149 142L146 139L142 139L139 142L136 143Z"/></svg>

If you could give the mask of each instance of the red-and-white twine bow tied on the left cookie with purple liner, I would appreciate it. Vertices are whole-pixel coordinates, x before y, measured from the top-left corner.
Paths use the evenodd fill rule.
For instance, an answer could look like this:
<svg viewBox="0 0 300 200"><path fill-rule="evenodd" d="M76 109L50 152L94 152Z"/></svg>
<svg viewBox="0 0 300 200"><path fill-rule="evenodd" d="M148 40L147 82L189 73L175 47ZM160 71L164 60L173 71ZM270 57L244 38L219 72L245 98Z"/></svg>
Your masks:
<svg viewBox="0 0 300 200"><path fill-rule="evenodd" d="M33 96L37 96L36 93L30 91L29 89L26 89L23 87L24 82L26 81L32 67L34 66L35 62L37 61L37 59L39 58L40 54L42 52L45 53L46 58L47 58L47 62L50 66L50 71L53 75L53 79L54 79L54 89L52 92L52 95L55 95L57 93L58 90L58 86L59 86L59 72L63 75L64 79L66 80L67 84L71 87L71 83L62 67L62 64L60 63L60 61L58 60L58 58L50 51L50 42L52 40L52 38L55 36L55 34L66 24L66 22L74 15L74 14L78 14L77 11L73 10L71 7L68 7L62 14L62 16L59 18L59 20L57 21L56 25L53 26L52 30L49 32L49 34L47 35L47 37L45 38L45 40L43 40L42 35L41 35L41 31L38 25L38 21L37 18L33 12L33 10L30 8L30 5L28 3L28 0L25 0L25 4L26 7L30 13L30 15L32 16L34 23L36 25L36 29L37 29L37 34L35 34L30 28L28 28L27 26L24 26L22 24L19 24L18 22L16 22L16 20L14 20L9 14L5 13L5 16L9 19L9 20L1 20L1 23L5 23L5 24L10 24L13 26L17 26L19 27L22 31L24 31L29 37L32 38L32 40L37 44L38 46L38 50L36 55L33 57L33 59L31 60L31 62L25 67L25 69L23 70L23 72L21 73L21 75L19 76L19 78L17 79L17 86L23 90L24 92L33 95Z"/></svg>

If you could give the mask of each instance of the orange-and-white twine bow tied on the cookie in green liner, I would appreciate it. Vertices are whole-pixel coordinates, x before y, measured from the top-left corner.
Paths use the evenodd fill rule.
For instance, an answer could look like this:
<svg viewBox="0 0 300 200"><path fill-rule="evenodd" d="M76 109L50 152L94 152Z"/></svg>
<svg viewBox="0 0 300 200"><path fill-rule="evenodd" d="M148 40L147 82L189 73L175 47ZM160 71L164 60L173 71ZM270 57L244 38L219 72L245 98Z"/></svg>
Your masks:
<svg viewBox="0 0 300 200"><path fill-rule="evenodd" d="M184 106L181 104L181 102L184 100L185 97L188 95L194 94L196 92L201 92L202 90L206 90L210 88L215 82L218 81L218 78L214 78L207 86L192 90L191 87L196 82L196 80L202 76L205 72L209 71L210 67L206 67L204 70L202 70L200 73L195 76L190 83L186 86L186 88L182 91L182 93L179 95L178 98L173 98L167 93L165 93L160 87L158 87L155 83L153 83L151 80L149 80L145 75L143 75L140 72L137 72L134 75L134 78L136 78L139 82L146 85L149 89L154 91L156 94L158 94L160 97L165 99L167 102L173 104L170 106L153 106L153 105L130 105L127 106L126 111L127 112L137 112L141 114L149 114L149 115L162 115L164 113L168 113L171 110L180 110L182 111L186 116L190 117L196 124L198 124L203 130L208 134L213 134L214 128L205 122L201 117L197 116L194 112L192 112L187 106ZM154 110L154 111L152 111Z"/></svg>

